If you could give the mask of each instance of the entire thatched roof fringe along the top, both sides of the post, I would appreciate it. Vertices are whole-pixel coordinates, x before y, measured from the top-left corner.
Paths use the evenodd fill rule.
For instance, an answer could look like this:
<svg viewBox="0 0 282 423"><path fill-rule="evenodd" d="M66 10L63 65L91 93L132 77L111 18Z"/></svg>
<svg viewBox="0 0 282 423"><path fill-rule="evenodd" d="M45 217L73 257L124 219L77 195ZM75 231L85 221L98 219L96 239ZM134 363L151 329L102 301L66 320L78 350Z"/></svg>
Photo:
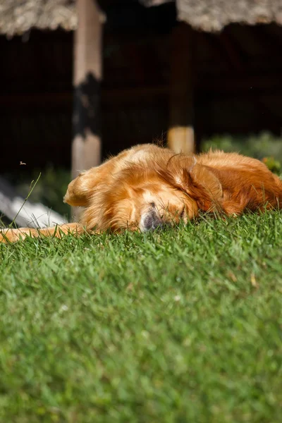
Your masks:
<svg viewBox="0 0 282 423"><path fill-rule="evenodd" d="M159 6L173 0L139 1ZM207 32L220 31L229 23L282 25L281 0L176 0L176 9L178 20ZM0 34L23 34L32 27L75 30L77 22L75 0L0 0Z"/></svg>

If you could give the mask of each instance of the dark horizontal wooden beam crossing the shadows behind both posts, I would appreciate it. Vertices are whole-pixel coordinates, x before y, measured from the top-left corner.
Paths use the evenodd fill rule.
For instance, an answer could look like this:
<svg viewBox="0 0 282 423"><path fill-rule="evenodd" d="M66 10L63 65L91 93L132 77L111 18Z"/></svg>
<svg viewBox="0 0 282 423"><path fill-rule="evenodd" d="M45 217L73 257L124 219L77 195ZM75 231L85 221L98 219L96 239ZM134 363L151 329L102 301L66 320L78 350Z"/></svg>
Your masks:
<svg viewBox="0 0 282 423"><path fill-rule="evenodd" d="M249 97L258 94L274 97L282 94L282 80L279 73L268 75L240 75L226 78L202 78L194 87L195 92L203 96L216 97ZM101 89L101 102L103 104L127 104L132 102L147 102L148 98L156 97L166 99L170 93L168 85L143 85L127 88ZM73 105L73 92L37 92L34 94L2 94L0 108L5 113L11 109L20 109L23 113L30 108L38 110L65 109Z"/></svg>

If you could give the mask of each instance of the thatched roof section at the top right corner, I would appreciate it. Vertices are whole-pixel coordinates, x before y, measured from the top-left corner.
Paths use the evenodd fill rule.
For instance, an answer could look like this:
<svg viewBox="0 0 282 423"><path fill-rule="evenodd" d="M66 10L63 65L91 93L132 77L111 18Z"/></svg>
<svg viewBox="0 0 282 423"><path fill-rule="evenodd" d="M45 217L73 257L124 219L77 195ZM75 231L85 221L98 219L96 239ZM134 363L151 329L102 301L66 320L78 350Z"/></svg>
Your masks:
<svg viewBox="0 0 282 423"><path fill-rule="evenodd" d="M147 6L157 6L167 0L141 0ZM178 20L196 29L216 32L229 23L276 22L282 25L281 0L176 0Z"/></svg>

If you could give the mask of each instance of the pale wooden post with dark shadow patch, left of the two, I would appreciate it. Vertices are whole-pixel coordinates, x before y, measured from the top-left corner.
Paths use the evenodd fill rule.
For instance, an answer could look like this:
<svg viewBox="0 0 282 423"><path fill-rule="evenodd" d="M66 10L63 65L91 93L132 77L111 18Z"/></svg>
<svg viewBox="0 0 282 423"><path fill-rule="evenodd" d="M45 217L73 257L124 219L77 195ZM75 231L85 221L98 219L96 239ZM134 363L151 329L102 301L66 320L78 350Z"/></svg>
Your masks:
<svg viewBox="0 0 282 423"><path fill-rule="evenodd" d="M102 13L96 0L76 0L78 29L74 39L72 176L99 165L99 118L102 80Z"/></svg>

